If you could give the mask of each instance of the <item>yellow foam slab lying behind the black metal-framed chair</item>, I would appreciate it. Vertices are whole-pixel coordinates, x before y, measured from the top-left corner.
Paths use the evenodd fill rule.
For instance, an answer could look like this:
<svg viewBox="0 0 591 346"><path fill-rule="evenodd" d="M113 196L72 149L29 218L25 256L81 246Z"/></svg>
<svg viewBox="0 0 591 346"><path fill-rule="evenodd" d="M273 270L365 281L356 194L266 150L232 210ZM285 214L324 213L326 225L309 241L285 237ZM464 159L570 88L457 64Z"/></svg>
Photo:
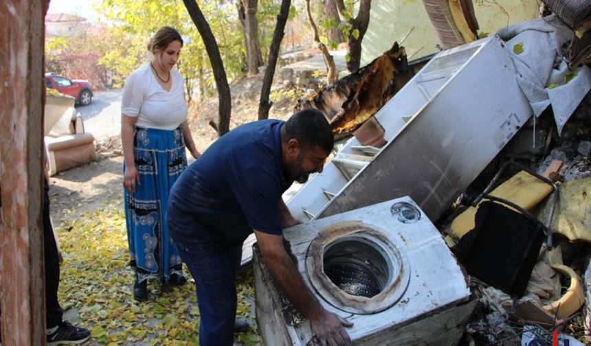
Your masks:
<svg viewBox="0 0 591 346"><path fill-rule="evenodd" d="M531 210L551 192L552 186L548 183L544 183L544 181L539 180L528 172L521 171L499 185L496 189L493 189L490 194L510 200L526 210ZM462 214L458 215L451 222L451 235L459 239L468 233L468 231L471 231L475 226L474 217L476 216L476 210L478 210L478 206L476 208L469 207Z"/></svg>

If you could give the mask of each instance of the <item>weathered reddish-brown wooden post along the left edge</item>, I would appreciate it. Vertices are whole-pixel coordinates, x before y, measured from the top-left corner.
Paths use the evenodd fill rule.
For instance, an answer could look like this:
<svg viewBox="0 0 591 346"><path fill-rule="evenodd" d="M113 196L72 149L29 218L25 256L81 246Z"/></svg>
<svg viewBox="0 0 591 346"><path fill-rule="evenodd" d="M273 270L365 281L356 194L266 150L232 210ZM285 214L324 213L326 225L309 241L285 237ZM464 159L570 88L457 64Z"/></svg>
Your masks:
<svg viewBox="0 0 591 346"><path fill-rule="evenodd" d="M43 47L46 0L0 1L2 345L45 345Z"/></svg>

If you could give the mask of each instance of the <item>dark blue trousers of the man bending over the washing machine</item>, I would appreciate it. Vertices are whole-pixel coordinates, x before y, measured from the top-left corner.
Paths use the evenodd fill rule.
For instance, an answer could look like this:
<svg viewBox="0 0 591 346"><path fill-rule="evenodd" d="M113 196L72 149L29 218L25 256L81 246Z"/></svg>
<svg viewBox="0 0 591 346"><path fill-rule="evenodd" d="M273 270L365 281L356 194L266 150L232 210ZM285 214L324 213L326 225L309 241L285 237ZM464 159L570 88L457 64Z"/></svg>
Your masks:
<svg viewBox="0 0 591 346"><path fill-rule="evenodd" d="M177 213L170 205L168 228L197 286L199 345L232 346L236 319L234 277L240 267L242 244L220 244L212 239L208 227ZM183 233L192 231L190 240L178 235L181 229Z"/></svg>

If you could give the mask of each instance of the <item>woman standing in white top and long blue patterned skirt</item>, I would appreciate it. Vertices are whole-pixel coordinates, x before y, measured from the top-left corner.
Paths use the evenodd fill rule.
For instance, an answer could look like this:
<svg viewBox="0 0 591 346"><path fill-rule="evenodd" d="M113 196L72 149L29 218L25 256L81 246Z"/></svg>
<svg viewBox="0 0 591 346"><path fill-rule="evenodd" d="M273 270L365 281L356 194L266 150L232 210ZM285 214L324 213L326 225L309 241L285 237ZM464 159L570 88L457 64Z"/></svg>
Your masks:
<svg viewBox="0 0 591 346"><path fill-rule="evenodd" d="M148 278L186 282L166 224L170 187L187 166L185 146L195 159L201 155L186 120L183 78L174 69L182 47L177 30L161 27L148 43L152 60L133 71L123 89L124 207L138 301L148 299Z"/></svg>

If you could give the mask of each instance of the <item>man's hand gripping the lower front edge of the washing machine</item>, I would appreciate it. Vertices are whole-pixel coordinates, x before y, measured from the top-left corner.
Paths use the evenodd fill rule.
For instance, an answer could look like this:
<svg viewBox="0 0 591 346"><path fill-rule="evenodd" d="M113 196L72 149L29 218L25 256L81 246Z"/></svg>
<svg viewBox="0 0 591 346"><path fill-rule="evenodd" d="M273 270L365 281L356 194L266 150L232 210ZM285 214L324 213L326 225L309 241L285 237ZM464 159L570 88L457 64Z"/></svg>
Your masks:
<svg viewBox="0 0 591 346"><path fill-rule="evenodd" d="M353 326L352 322L324 310L323 316L318 316L318 319L311 321L312 332L318 338L322 346L348 346L351 345L349 334L345 327Z"/></svg>

